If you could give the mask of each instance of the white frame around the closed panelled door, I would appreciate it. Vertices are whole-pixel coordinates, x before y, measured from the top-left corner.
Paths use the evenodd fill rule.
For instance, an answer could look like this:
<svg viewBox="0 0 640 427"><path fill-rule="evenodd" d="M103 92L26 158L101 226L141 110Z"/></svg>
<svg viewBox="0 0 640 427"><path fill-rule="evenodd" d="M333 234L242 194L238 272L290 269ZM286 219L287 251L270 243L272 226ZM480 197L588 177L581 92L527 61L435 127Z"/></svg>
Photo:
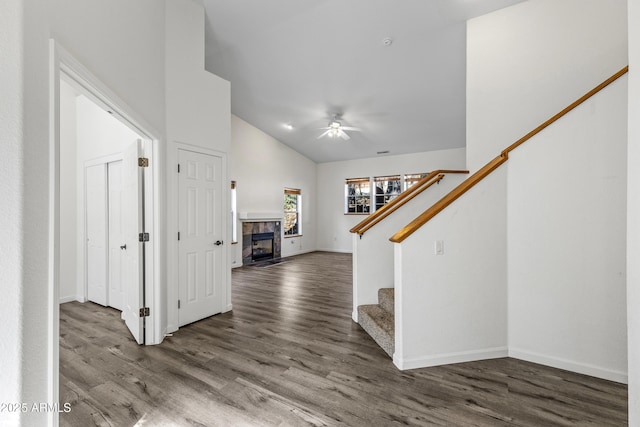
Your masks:
<svg viewBox="0 0 640 427"><path fill-rule="evenodd" d="M208 154L210 156L220 157L222 159L222 214L223 214L223 236L225 242L231 241L231 214L230 214L230 206L231 206L231 191L229 191L228 184L228 175L227 175L227 154L217 150L207 149L198 145L186 144L184 142L173 141L170 144L170 149L168 149L167 153L167 170L171 171L170 177L167 177L168 185L169 185L169 193L171 200L179 200L178 192L179 192L179 175L178 175L178 153L180 150L192 151L194 153L200 154ZM167 253L169 259L178 259L178 232L179 230L179 215L178 210L179 206L176 205L173 209L167 209L167 224L168 224L168 232L169 239L167 241ZM223 277L223 298L225 298L224 308L222 309L222 313L226 313L231 311L231 269L229 268L229 254L231 250L226 245L225 249L225 266L224 266L224 277ZM167 263L167 278L169 283L179 283L179 268L178 263ZM179 312L178 312L178 299L180 296L179 286L168 286L167 287L167 328L166 333L172 333L179 329Z"/></svg>

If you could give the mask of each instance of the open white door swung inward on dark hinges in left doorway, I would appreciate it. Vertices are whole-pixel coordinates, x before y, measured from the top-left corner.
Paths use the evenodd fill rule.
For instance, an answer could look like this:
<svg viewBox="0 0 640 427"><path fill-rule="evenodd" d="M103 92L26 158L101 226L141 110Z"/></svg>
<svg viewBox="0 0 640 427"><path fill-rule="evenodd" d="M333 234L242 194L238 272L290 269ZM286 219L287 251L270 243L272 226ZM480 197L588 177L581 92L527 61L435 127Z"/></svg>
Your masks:
<svg viewBox="0 0 640 427"><path fill-rule="evenodd" d="M143 188L141 185L142 168L138 158L142 152L142 141L136 141L125 150L122 161L122 231L124 234L122 257L122 286L124 319L131 334L138 342L144 343L143 307L144 289L144 243L139 241L143 231Z"/></svg>

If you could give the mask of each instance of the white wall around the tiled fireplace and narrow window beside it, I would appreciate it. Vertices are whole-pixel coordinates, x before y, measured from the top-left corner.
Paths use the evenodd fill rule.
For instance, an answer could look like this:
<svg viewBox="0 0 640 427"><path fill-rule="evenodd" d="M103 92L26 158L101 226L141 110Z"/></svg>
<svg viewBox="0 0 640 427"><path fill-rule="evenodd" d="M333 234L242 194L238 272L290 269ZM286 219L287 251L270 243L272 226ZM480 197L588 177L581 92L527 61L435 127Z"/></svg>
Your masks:
<svg viewBox="0 0 640 427"><path fill-rule="evenodd" d="M302 191L302 236L282 239L282 256L317 247L317 165L239 117L232 116L230 178L236 181L238 212L274 212L283 215L284 189ZM343 184L344 185L344 184ZM242 223L231 264L242 265Z"/></svg>

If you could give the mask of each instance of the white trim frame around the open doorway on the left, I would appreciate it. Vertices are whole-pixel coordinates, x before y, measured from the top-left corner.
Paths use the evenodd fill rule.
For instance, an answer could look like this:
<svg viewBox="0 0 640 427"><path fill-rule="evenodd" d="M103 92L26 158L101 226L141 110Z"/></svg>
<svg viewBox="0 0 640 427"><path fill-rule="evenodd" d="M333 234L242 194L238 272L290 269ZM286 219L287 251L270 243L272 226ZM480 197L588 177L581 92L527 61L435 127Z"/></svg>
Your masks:
<svg viewBox="0 0 640 427"><path fill-rule="evenodd" d="M151 233L147 246L147 261L145 265L146 285L145 305L149 307L151 315L146 322L146 342L159 344L162 342L161 330L161 297L162 279L161 263L159 262L163 236L160 233L161 218L159 215L160 202L160 174L162 165L160 156L160 135L143 117L136 113L107 85L102 83L89 69L76 60L63 46L54 39L49 41L49 330L47 332L47 352L51 364L48 369L48 390L50 402L59 401L60 379L60 79L71 83L82 94L90 98L97 105L110 111L118 120L129 126L146 141L145 157L149 158L149 167L145 168L146 232ZM58 414L49 413L49 424L58 425Z"/></svg>

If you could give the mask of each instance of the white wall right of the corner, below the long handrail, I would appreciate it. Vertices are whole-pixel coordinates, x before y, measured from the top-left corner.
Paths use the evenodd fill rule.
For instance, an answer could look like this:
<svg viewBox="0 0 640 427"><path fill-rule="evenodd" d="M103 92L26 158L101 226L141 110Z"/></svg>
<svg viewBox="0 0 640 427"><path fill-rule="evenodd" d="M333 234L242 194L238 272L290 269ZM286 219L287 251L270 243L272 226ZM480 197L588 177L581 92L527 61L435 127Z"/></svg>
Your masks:
<svg viewBox="0 0 640 427"><path fill-rule="evenodd" d="M627 380L627 81L508 162L509 354Z"/></svg>

